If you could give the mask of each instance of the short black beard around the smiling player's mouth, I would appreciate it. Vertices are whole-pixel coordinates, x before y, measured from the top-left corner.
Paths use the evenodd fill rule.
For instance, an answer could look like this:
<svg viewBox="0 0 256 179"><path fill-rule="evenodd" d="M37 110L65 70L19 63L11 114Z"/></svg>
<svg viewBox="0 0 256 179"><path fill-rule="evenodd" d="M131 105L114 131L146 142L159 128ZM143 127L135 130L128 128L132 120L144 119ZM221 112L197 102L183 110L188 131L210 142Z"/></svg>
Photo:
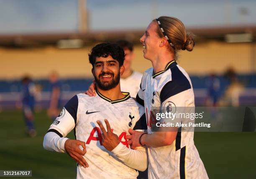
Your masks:
<svg viewBox="0 0 256 179"><path fill-rule="evenodd" d="M100 77L104 76L105 74L112 75L113 80L110 81L110 82L101 82ZM119 82L120 82L120 73L118 73L117 76L115 77L113 73L103 72L99 75L98 78L97 77L94 77L94 78L95 78L97 87L99 87L101 90L107 91L107 90L113 89L114 87L116 87L119 84Z"/></svg>

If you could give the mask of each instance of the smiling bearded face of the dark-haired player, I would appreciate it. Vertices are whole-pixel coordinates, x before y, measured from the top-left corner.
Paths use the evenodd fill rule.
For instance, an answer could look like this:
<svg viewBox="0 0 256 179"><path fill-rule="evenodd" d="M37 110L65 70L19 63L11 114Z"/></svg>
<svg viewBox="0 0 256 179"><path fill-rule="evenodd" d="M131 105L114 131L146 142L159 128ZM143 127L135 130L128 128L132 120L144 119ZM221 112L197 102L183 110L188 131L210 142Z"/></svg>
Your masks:
<svg viewBox="0 0 256 179"><path fill-rule="evenodd" d="M120 73L123 74L124 67L119 67L119 62L112 56L96 57L92 74L95 77L97 87L101 90L111 90L120 82Z"/></svg>

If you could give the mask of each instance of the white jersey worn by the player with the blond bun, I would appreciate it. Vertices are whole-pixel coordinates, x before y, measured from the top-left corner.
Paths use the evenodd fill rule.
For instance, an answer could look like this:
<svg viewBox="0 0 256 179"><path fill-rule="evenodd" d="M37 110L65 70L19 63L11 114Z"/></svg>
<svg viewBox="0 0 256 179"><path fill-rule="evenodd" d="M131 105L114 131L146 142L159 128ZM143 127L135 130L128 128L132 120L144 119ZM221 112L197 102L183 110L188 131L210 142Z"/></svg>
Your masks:
<svg viewBox="0 0 256 179"><path fill-rule="evenodd" d="M156 74L153 72L153 67L146 70L136 99L140 104L145 105L149 134L154 133L151 129L151 110L154 108L160 109L168 105L192 107L192 109L195 107L189 76L175 61L170 61L164 71ZM178 131L172 145L148 147L148 178L207 179L208 176L194 145L193 137L194 132Z"/></svg>

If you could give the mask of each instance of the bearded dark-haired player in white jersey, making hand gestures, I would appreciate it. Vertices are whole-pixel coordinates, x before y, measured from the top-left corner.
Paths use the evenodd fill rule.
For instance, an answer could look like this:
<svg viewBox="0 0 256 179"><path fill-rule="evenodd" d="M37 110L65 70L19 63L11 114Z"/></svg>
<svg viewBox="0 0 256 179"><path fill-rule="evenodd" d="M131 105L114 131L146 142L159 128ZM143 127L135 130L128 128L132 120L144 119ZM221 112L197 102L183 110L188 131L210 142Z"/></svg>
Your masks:
<svg viewBox="0 0 256 179"><path fill-rule="evenodd" d="M145 130L146 118L144 107L120 90L124 56L114 43L92 48L89 61L96 97L72 97L44 137L46 150L67 152L77 161L77 179L136 179L136 170L147 167L146 149L133 150L127 144L128 130ZM65 138L72 129L76 140Z"/></svg>

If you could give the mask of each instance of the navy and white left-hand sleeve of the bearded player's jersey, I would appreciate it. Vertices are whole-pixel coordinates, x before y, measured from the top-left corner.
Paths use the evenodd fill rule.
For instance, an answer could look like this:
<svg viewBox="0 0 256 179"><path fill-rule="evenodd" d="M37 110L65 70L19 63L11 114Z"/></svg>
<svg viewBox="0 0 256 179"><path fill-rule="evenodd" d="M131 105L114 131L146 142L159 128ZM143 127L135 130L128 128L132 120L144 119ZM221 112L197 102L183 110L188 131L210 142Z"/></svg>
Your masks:
<svg viewBox="0 0 256 179"><path fill-rule="evenodd" d="M72 97L62 109L59 116L51 124L48 132L54 132L60 137L65 137L74 129L77 123L78 97Z"/></svg>

